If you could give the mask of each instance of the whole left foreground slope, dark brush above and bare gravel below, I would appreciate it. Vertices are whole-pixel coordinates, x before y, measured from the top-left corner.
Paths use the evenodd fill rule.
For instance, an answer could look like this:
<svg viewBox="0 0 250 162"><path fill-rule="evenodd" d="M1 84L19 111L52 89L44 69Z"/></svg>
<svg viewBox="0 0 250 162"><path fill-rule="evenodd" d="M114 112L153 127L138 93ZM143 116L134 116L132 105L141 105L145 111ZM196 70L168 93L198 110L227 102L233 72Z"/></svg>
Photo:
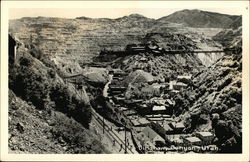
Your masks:
<svg viewBox="0 0 250 162"><path fill-rule="evenodd" d="M10 152L108 153L88 129L91 109L85 89L92 86L85 82L76 88L50 60L33 57L36 52L21 45L16 63L9 64Z"/></svg>

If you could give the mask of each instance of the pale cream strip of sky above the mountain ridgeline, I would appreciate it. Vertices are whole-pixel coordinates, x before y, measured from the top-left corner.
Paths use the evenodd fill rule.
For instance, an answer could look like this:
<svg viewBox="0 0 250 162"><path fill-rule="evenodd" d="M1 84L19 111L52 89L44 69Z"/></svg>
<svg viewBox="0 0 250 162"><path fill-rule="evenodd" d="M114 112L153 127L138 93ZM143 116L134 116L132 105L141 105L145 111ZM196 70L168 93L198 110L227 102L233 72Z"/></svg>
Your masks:
<svg viewBox="0 0 250 162"><path fill-rule="evenodd" d="M10 8L9 19L22 17L61 17L76 18L80 16L90 18L118 18L133 13L148 18L158 19L186 8ZM230 15L241 15L239 8L188 8L218 12Z"/></svg>

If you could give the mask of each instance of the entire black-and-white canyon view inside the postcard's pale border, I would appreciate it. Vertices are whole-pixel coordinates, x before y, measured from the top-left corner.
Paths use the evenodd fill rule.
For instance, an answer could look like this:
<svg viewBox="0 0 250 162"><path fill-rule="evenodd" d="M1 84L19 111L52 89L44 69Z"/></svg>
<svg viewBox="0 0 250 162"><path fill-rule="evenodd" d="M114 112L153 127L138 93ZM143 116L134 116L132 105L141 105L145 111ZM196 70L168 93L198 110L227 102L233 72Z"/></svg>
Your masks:
<svg viewBox="0 0 250 162"><path fill-rule="evenodd" d="M8 10L8 154L244 152L249 4L51 7Z"/></svg>

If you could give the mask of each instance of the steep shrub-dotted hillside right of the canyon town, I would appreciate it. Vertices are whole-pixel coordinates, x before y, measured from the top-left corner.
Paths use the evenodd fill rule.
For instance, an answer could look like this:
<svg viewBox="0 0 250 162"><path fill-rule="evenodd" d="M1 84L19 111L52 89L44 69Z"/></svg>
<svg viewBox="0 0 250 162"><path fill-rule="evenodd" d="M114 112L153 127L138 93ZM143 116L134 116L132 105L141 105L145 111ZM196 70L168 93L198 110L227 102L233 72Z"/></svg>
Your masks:
<svg viewBox="0 0 250 162"><path fill-rule="evenodd" d="M241 152L242 129L242 56L225 55L194 80L182 97L182 115L191 119L190 129L214 129L221 152ZM180 97L180 100L181 98ZM184 106L186 105L186 106ZM179 107L180 105L176 105Z"/></svg>

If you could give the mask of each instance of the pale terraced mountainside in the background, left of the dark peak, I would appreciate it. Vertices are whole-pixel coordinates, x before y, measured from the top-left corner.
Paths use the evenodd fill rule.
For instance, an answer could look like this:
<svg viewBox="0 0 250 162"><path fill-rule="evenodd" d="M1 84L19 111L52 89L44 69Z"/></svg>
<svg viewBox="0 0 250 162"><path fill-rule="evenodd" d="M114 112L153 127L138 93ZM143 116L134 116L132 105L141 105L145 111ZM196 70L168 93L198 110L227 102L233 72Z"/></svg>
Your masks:
<svg viewBox="0 0 250 162"><path fill-rule="evenodd" d="M57 65L70 61L86 63L103 49L123 50L139 43L153 20L138 15L119 19L22 18L10 21L9 32L25 44L36 45Z"/></svg>

